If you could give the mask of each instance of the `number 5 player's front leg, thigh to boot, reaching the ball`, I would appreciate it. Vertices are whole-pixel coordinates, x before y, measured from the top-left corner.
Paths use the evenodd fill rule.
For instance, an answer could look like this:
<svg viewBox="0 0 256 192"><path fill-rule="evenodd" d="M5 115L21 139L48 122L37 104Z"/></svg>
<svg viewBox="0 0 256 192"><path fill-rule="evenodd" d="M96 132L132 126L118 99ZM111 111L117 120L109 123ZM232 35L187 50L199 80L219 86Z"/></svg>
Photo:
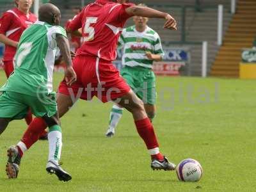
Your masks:
<svg viewBox="0 0 256 192"><path fill-rule="evenodd" d="M155 169L174 170L175 164L170 163L159 151L154 127L147 116L142 100L130 91L118 100L118 104L132 113L138 133L147 145L152 157L151 167Z"/></svg>

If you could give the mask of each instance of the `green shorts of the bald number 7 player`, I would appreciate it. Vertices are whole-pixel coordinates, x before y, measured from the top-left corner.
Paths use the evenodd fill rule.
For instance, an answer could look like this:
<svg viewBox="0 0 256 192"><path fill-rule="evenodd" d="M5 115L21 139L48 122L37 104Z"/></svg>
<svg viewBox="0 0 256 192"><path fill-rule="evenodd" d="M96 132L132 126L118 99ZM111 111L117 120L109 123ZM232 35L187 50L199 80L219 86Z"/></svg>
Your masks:
<svg viewBox="0 0 256 192"><path fill-rule="evenodd" d="M0 118L22 119L31 109L36 117L57 113L56 93L33 97L16 92L0 92Z"/></svg>

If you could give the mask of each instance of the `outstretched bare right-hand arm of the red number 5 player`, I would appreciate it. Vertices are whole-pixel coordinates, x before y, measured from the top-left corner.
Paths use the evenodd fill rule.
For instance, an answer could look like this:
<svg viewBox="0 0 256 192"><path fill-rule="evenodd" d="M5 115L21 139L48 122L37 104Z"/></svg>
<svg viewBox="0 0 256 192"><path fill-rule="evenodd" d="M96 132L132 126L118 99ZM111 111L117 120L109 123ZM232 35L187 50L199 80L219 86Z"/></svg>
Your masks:
<svg viewBox="0 0 256 192"><path fill-rule="evenodd" d="M151 18L162 18L165 19L164 23L165 29L177 30L176 20L168 13L159 12L152 8L141 7L141 6L132 6L125 9L129 15L141 16L141 17L151 17Z"/></svg>

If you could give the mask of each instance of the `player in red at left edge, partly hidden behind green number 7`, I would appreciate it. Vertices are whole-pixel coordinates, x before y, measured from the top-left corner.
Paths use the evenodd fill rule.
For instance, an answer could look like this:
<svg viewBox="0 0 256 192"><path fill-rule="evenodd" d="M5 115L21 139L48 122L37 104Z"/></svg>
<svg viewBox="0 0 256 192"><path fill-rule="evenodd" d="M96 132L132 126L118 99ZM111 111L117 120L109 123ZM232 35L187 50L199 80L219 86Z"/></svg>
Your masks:
<svg viewBox="0 0 256 192"><path fill-rule="evenodd" d="M32 3L32 0L16 0L17 8L4 12L0 19L0 42L5 44L3 63L7 78L13 72L13 58L21 34L37 20L36 16L29 12ZM28 113L25 120L28 125L31 123L31 112Z"/></svg>

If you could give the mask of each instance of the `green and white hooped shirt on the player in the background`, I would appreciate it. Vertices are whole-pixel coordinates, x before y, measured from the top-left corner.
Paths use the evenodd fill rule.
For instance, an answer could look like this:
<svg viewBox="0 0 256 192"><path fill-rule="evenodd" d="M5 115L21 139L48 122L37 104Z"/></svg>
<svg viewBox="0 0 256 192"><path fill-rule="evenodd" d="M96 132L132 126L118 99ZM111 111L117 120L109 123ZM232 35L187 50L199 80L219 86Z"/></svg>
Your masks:
<svg viewBox="0 0 256 192"><path fill-rule="evenodd" d="M138 32L135 26L125 28L118 41L118 48L122 47L124 47L122 64L130 67L152 68L154 61L148 60L145 55L147 51L160 54L162 58L164 56L159 35L148 26L142 33Z"/></svg>

